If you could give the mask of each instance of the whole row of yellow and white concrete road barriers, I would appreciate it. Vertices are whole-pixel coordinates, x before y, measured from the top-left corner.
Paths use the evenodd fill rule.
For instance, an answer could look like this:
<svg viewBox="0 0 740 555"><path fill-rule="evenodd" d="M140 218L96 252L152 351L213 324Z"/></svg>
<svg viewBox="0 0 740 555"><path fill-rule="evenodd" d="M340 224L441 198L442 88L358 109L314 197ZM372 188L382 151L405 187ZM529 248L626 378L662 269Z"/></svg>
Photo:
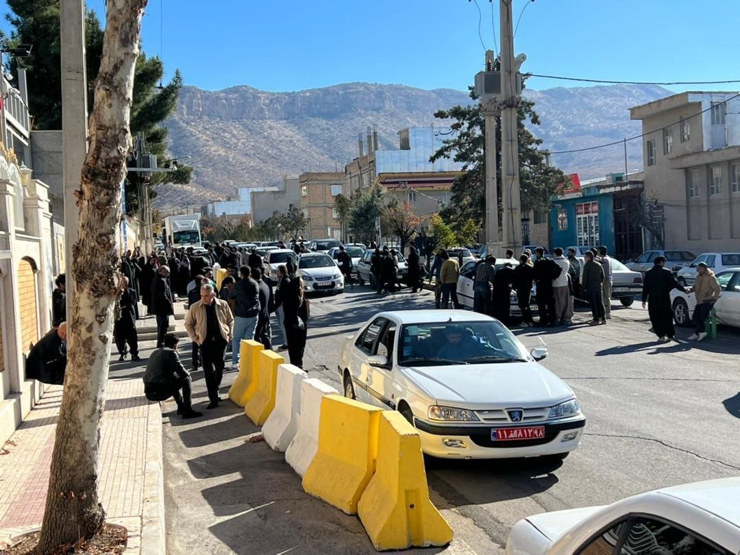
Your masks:
<svg viewBox="0 0 740 555"><path fill-rule="evenodd" d="M341 397L251 340L229 399L285 452L306 493L360 517L378 551L452 541L429 499L419 434L400 413Z"/></svg>

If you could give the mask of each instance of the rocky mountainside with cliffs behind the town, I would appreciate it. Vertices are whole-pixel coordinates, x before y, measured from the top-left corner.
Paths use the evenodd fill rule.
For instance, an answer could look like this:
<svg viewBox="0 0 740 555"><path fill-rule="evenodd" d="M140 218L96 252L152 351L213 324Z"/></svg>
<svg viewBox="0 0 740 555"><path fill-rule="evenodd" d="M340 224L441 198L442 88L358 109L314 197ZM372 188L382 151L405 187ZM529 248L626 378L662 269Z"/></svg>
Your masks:
<svg viewBox="0 0 740 555"><path fill-rule="evenodd" d="M617 141L639 133L629 119L636 104L670 94L661 87L581 87L527 90L542 125L532 130L551 150ZM172 153L191 155L188 186L162 186L158 206L225 198L239 186L275 185L283 175L342 168L357 156L357 135L377 129L380 148L397 146L396 132L441 125L434 112L470 101L466 92L404 85L346 83L297 92L252 87L221 91L185 87L167 121ZM639 141L628 149L629 169L642 167ZM624 169L621 146L558 155L565 172L591 178Z"/></svg>

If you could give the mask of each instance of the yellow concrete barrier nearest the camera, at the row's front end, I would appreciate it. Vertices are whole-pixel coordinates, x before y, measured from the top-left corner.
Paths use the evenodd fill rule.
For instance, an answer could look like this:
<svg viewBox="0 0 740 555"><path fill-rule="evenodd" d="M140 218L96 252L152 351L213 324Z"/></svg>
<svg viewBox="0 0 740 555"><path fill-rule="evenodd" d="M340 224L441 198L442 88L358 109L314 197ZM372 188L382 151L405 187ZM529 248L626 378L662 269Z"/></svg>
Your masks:
<svg viewBox="0 0 740 555"><path fill-rule="evenodd" d="M383 411L377 440L375 474L357 505L375 548L385 551L451 542L450 525L429 500L418 432L400 413Z"/></svg>

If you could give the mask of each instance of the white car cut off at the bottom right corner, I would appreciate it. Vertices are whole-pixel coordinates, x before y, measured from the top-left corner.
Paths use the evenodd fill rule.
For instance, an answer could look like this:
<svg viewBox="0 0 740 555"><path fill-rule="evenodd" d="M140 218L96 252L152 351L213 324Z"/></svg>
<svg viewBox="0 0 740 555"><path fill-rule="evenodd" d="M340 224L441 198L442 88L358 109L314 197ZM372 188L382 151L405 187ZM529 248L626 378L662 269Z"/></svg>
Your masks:
<svg viewBox="0 0 740 555"><path fill-rule="evenodd" d="M740 553L740 478L648 491L612 505L519 520L509 555L736 555Z"/></svg>

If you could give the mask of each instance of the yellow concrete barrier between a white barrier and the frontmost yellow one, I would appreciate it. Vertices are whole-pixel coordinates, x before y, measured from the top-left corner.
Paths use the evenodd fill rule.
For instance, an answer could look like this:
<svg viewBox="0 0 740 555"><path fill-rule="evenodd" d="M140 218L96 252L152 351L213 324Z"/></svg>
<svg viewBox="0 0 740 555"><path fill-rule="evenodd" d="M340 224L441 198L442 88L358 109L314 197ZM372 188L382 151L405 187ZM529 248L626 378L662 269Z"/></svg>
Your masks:
<svg viewBox="0 0 740 555"><path fill-rule="evenodd" d="M303 476L306 493L357 514L357 502L374 472L381 412L339 395L322 398L318 451Z"/></svg>

